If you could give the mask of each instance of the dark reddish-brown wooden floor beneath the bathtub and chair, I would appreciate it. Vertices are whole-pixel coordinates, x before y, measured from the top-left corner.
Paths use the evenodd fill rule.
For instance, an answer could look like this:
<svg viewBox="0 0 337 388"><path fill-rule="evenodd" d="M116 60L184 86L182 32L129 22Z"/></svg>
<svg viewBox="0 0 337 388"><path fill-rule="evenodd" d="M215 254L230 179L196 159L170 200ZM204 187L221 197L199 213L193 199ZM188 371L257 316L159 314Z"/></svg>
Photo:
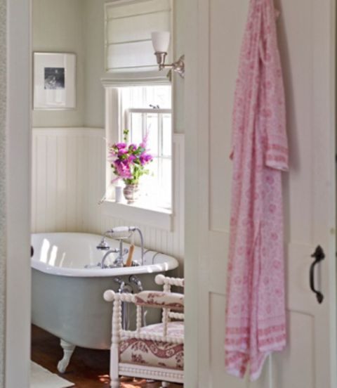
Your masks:
<svg viewBox="0 0 337 388"><path fill-rule="evenodd" d="M76 348L67 372L58 373L56 366L62 358L60 340L53 335L32 326L32 361L52 373L57 373L77 388L109 387L109 351ZM158 382L124 379L121 388L158 388ZM183 385L171 384L170 388L182 388ZM46 387L48 388L48 387Z"/></svg>

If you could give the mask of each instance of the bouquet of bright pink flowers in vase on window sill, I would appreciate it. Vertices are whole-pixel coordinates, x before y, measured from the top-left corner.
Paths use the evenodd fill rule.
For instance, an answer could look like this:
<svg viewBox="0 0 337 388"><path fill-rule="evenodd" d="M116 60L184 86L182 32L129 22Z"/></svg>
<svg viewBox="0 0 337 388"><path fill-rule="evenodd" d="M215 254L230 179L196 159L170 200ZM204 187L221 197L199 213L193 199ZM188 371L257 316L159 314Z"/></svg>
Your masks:
<svg viewBox="0 0 337 388"><path fill-rule="evenodd" d="M139 144L127 144L128 130L124 131L124 143L114 143L109 147L109 161L117 176L114 181L123 179L127 185L137 185L140 176L149 174L145 168L152 162L152 155L147 150L147 136Z"/></svg>

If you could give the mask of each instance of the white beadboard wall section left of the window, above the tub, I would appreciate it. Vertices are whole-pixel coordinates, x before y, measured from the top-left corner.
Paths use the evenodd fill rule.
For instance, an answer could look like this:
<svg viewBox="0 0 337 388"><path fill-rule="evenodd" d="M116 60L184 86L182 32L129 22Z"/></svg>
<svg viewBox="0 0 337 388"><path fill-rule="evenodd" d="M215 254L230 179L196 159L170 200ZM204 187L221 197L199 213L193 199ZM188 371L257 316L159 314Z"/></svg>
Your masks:
<svg viewBox="0 0 337 388"><path fill-rule="evenodd" d="M32 144L32 231L100 231L103 129L37 128Z"/></svg>

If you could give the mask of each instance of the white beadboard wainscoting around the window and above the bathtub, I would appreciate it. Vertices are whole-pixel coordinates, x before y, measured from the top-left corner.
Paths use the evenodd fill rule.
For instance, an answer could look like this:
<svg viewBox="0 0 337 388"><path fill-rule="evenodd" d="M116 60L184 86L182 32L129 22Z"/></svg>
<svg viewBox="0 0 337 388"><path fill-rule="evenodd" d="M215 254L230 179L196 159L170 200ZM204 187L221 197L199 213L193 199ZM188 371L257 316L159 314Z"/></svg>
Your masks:
<svg viewBox="0 0 337 388"><path fill-rule="evenodd" d="M111 211L105 214L98 205L105 192L104 129L34 128L32 138L32 233L103 233L114 226L136 224L147 248L183 262L184 135L173 136L171 231L149 226L146 220L136 223L114 217Z"/></svg>

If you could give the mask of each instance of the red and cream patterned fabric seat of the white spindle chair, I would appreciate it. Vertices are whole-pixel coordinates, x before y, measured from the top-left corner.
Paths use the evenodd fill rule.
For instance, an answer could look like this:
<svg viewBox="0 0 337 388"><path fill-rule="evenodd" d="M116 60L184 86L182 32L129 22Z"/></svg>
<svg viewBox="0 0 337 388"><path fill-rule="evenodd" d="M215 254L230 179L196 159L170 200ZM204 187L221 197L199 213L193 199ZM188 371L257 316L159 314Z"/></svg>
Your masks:
<svg viewBox="0 0 337 388"><path fill-rule="evenodd" d="M141 333L163 335L164 325L145 326ZM184 337L183 322L169 322L167 334L170 337ZM184 368L184 345L170 344L168 342L138 340L129 338L119 344L119 360L123 363L136 363L161 368L181 369Z"/></svg>

